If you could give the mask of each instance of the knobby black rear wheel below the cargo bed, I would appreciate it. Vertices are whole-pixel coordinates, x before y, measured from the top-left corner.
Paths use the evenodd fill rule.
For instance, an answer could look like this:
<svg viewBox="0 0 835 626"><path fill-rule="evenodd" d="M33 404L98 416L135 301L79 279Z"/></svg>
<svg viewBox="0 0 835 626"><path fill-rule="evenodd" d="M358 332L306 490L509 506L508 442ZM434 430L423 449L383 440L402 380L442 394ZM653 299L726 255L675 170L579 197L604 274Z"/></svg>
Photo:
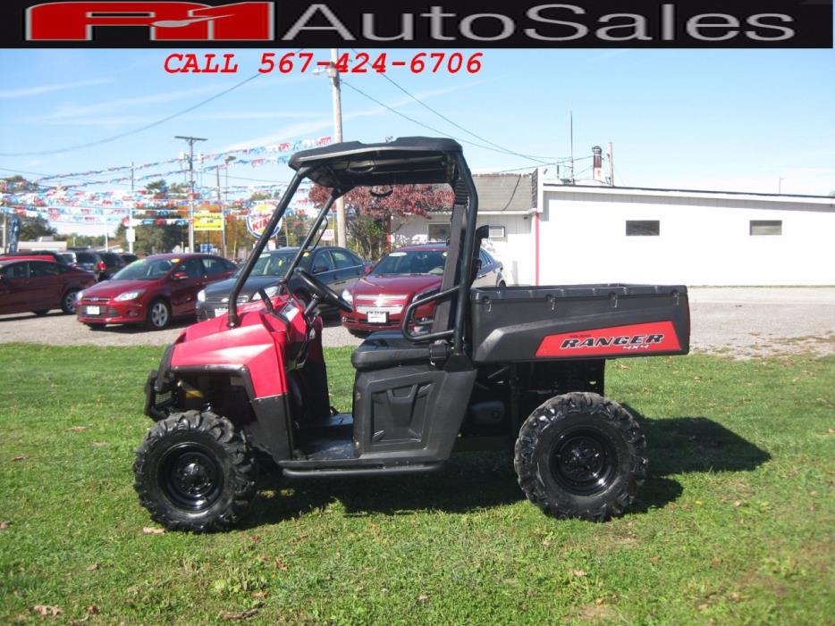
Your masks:
<svg viewBox="0 0 835 626"><path fill-rule="evenodd" d="M635 419L592 393L557 396L519 430L519 487L545 513L602 522L635 499L646 475L646 443Z"/></svg>

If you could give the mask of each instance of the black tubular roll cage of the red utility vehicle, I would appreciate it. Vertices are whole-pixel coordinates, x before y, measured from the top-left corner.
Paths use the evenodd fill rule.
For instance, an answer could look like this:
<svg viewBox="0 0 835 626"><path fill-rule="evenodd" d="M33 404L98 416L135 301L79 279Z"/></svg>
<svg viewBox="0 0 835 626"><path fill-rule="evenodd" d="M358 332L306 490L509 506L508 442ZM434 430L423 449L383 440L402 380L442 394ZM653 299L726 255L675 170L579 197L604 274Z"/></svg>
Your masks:
<svg viewBox="0 0 835 626"><path fill-rule="evenodd" d="M407 314L403 316L401 330L404 337L410 341L443 340L451 343L451 356L466 355L469 352L466 308L471 280L462 278L472 276L474 254L477 254L478 196L459 143L452 139L424 137L399 138L380 144L352 141L303 150L293 154L289 164L296 173L275 207L272 218L249 255L229 296L229 327L234 328L240 324L240 290L304 179L330 188L331 195L316 215L316 220L299 247L299 253L287 271L287 277L299 267L305 251L316 238L316 233L321 229L333 203L351 189L446 183L454 191L455 199L451 214L449 254L441 288L433 296L409 305ZM409 314L417 306L431 300L438 301L432 330L428 334L412 335L408 330Z"/></svg>

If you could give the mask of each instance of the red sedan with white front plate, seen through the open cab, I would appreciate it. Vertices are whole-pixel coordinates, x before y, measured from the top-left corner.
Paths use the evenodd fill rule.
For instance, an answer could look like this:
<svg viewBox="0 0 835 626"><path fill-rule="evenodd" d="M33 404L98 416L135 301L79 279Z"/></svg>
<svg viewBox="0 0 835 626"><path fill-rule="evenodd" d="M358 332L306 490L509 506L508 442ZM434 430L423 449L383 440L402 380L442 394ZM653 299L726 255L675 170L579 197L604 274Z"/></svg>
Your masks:
<svg viewBox="0 0 835 626"><path fill-rule="evenodd" d="M342 313L342 326L357 337L399 329L406 306L441 287L446 255L446 244L403 246L385 255L367 276L342 292L353 306L350 313ZM505 286L502 263L484 249L478 251L476 268L473 287ZM433 316L434 305L426 305L418 309L416 322L426 325Z"/></svg>

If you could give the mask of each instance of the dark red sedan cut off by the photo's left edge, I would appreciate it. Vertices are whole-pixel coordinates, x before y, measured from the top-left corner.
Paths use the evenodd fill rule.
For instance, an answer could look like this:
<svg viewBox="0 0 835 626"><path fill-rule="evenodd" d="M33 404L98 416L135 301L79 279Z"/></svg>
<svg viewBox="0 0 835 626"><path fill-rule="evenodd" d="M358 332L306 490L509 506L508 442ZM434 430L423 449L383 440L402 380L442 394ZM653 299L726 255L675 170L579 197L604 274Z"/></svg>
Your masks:
<svg viewBox="0 0 835 626"><path fill-rule="evenodd" d="M89 271L38 258L0 257L0 314L75 313L81 289L96 284Z"/></svg>

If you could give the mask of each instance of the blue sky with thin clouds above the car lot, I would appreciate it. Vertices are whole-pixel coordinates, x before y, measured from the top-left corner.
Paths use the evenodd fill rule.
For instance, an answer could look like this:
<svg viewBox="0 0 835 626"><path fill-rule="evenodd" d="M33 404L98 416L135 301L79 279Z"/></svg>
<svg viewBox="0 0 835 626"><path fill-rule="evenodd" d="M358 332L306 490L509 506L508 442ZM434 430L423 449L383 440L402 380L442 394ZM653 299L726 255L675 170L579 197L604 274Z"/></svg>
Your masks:
<svg viewBox="0 0 835 626"><path fill-rule="evenodd" d="M168 52L0 51L0 153L50 151L136 129L257 73L261 53L215 51L236 53L236 74L170 75L163 70ZM317 60L329 56L327 50L313 52ZM387 52L390 60L408 60L416 51ZM482 61L474 75L391 68L388 75L452 121L524 154L567 156L573 111L575 156L613 142L619 185L774 193L780 184L786 193L816 195L835 190L835 50L487 50ZM409 117L479 142L374 73L345 78ZM346 140L434 134L350 88L343 88L342 109ZM325 76L276 73L112 143L0 156L0 176L171 159L185 149L174 135L208 138L198 146L207 153L316 138L332 133L332 119ZM536 165L464 146L475 171ZM581 163L578 171L588 161ZM288 171L233 166L230 184L284 180Z"/></svg>

